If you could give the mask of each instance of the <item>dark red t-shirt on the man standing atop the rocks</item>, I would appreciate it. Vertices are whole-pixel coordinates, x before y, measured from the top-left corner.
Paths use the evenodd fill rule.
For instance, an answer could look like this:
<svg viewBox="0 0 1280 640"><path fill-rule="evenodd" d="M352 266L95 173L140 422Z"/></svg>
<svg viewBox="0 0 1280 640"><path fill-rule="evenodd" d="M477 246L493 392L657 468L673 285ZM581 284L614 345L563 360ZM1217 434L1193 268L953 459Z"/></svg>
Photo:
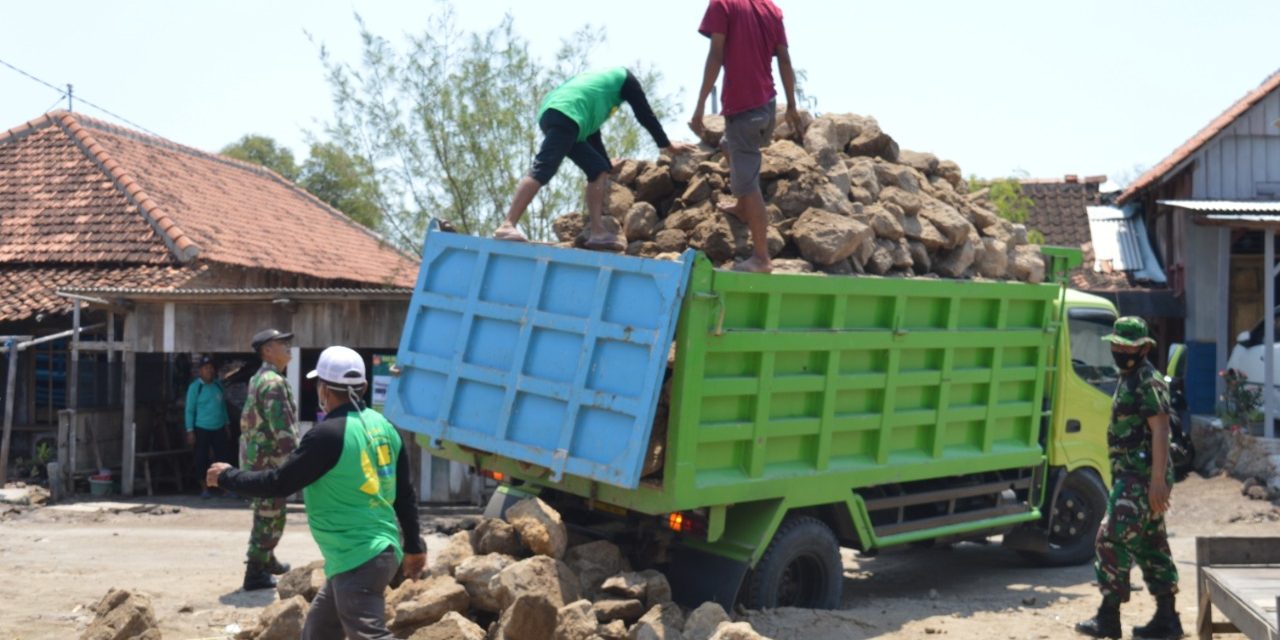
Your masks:
<svg viewBox="0 0 1280 640"><path fill-rule="evenodd" d="M724 115L764 106L777 96L773 54L787 44L787 32L782 9L772 0L710 0L698 32L724 35Z"/></svg>

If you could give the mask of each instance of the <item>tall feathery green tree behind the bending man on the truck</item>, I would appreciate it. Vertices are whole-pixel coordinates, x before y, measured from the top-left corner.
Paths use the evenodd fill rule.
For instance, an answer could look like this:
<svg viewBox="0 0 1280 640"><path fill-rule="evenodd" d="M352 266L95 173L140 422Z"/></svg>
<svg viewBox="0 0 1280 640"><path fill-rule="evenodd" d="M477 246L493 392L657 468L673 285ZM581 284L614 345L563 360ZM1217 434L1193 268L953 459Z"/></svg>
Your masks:
<svg viewBox="0 0 1280 640"><path fill-rule="evenodd" d="M604 40L602 29L584 27L543 63L511 15L472 33L458 28L449 4L439 6L426 29L399 47L356 15L358 64L320 51L335 111L328 134L372 163L385 228L406 248L419 244L433 216L472 234L499 224L541 142L535 114L543 96L584 70ZM671 100L654 91L660 78L637 67L632 72L658 116L669 114ZM614 116L604 138L622 157L636 154L648 136L632 118ZM525 214L525 232L548 238L552 219L580 205L582 183L577 172L562 170Z"/></svg>

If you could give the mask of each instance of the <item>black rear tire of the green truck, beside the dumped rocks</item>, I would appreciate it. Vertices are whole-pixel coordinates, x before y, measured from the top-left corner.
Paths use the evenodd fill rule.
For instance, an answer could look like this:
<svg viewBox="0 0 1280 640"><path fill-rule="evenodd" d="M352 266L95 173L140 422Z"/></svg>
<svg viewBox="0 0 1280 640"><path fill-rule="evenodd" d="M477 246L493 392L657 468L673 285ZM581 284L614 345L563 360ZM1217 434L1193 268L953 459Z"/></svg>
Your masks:
<svg viewBox="0 0 1280 640"><path fill-rule="evenodd" d="M791 516L748 575L741 600L749 609L835 609L844 588L845 568L835 534L820 520Z"/></svg>

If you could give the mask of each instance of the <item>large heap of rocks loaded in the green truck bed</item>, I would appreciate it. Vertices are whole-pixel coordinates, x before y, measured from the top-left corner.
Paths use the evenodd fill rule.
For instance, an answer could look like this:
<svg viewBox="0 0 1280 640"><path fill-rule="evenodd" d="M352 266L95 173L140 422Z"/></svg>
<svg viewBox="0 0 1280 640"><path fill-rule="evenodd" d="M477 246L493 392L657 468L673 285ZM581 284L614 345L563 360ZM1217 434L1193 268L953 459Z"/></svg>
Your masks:
<svg viewBox="0 0 1280 640"><path fill-rule="evenodd" d="M808 118L803 137L781 124L760 170L774 270L831 275L938 275L1042 282L1027 228L968 193L960 166L899 150L874 118ZM780 123L781 123L780 114ZM721 212L728 164L721 116L707 118L700 150L657 163L626 160L608 195L607 224L627 253L673 259L689 247L717 265L750 255L746 225ZM581 246L585 216L553 224L562 246Z"/></svg>

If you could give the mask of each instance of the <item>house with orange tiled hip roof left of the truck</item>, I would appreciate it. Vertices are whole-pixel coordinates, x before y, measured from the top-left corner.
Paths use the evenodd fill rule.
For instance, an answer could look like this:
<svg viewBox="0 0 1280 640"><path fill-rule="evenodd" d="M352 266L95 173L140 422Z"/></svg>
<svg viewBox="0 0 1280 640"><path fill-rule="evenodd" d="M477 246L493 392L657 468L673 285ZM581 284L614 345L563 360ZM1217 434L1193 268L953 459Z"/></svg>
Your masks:
<svg viewBox="0 0 1280 640"><path fill-rule="evenodd" d="M132 493L142 456L177 448L192 355L247 376L268 326L296 334L288 378L311 420L300 371L330 344L394 353L416 275L416 256L261 166L78 113L12 128L0 334L22 339L5 453L10 430L18 456L56 440L68 480L116 467Z"/></svg>

